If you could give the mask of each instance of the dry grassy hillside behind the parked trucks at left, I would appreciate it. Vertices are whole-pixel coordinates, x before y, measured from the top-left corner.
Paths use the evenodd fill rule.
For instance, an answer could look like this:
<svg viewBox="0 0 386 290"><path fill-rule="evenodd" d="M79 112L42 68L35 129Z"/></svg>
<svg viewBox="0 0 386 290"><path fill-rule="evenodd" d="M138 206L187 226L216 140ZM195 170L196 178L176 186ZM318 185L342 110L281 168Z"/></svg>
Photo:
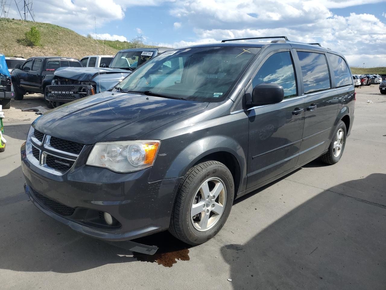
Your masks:
<svg viewBox="0 0 386 290"><path fill-rule="evenodd" d="M41 46L33 48L20 43L24 34L35 26L41 34ZM86 55L103 54L103 40L81 36L71 29L49 23L0 18L0 53L10 56L65 56L81 59ZM106 41L105 55L115 55L124 48L135 48L135 43ZM137 46L139 47L139 46ZM141 45L141 47L152 47Z"/></svg>

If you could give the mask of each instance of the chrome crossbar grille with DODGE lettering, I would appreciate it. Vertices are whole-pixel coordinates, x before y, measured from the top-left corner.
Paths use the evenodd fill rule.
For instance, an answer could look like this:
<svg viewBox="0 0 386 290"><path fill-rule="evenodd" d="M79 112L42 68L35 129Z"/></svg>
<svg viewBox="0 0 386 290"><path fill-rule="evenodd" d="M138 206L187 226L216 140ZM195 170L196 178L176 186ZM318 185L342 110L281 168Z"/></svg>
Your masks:
<svg viewBox="0 0 386 290"><path fill-rule="evenodd" d="M63 175L75 164L85 145L63 140L34 130L27 137L27 159L44 171Z"/></svg>

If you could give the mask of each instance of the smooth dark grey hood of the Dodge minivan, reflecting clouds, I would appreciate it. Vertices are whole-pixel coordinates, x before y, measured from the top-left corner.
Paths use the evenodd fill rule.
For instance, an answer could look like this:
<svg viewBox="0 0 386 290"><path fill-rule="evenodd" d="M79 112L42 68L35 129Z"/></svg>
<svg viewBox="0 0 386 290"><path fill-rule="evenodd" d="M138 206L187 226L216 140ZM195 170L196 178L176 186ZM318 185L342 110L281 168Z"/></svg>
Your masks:
<svg viewBox="0 0 386 290"><path fill-rule="evenodd" d="M45 134L83 144L135 140L207 106L207 102L102 92L48 111L32 126Z"/></svg>

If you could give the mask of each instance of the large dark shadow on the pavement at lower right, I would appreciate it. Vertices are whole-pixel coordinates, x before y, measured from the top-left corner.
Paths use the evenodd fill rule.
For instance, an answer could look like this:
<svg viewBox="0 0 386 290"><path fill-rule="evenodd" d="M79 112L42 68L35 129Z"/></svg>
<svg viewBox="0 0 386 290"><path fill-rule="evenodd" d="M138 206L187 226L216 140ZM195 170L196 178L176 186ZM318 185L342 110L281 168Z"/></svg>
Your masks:
<svg viewBox="0 0 386 290"><path fill-rule="evenodd" d="M293 209L247 243L223 246L232 287L384 289L386 194L379 189L385 187L386 174L339 184Z"/></svg>

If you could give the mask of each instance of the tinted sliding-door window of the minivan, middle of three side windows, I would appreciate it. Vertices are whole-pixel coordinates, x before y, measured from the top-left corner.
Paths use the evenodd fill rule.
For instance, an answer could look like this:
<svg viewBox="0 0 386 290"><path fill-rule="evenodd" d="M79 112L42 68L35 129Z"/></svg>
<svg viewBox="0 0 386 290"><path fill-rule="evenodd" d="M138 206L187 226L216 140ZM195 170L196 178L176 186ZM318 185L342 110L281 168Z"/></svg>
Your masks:
<svg viewBox="0 0 386 290"><path fill-rule="evenodd" d="M330 73L324 54L298 51L298 57L305 94L331 88Z"/></svg>

